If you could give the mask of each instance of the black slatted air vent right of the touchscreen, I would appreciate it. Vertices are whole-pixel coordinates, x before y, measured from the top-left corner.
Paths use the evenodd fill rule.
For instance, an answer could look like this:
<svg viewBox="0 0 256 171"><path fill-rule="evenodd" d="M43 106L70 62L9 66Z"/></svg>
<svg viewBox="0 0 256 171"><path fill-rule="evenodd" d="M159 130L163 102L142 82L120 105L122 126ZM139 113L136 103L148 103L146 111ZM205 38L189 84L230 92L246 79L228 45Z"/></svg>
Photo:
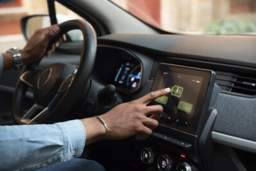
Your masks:
<svg viewBox="0 0 256 171"><path fill-rule="evenodd" d="M216 84L225 91L256 95L256 75L237 75L233 73L216 72Z"/></svg>

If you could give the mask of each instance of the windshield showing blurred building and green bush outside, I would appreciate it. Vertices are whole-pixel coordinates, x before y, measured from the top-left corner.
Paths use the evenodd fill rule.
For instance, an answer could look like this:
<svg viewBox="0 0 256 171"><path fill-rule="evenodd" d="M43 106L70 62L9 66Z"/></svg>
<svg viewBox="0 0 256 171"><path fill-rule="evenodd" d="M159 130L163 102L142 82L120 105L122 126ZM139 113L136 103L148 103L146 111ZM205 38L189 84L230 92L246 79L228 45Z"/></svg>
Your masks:
<svg viewBox="0 0 256 171"><path fill-rule="evenodd" d="M111 0L173 33L256 35L256 0Z"/></svg>

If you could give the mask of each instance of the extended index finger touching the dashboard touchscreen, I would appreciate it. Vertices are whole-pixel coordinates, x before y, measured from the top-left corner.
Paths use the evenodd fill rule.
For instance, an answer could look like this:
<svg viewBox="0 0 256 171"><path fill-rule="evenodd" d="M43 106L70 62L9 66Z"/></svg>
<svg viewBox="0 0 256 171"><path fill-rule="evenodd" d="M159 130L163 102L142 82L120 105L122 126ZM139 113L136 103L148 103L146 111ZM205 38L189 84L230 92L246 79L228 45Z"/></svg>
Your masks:
<svg viewBox="0 0 256 171"><path fill-rule="evenodd" d="M152 100L159 98L161 96L166 95L167 93L170 93L170 88L166 88L166 89L160 89L158 91L153 91L145 96L143 96L142 98L139 98L138 100L142 103L142 104L149 104Z"/></svg>

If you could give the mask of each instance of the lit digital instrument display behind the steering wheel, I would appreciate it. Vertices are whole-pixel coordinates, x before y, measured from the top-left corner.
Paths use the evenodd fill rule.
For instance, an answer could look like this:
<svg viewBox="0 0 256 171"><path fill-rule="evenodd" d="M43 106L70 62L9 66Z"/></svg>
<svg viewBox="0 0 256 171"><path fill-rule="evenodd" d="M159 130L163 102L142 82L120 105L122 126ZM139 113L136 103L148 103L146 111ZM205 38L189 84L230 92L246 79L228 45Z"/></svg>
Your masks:
<svg viewBox="0 0 256 171"><path fill-rule="evenodd" d="M142 77L142 66L138 62L126 62L116 69L114 83L124 90L134 91L140 87Z"/></svg>

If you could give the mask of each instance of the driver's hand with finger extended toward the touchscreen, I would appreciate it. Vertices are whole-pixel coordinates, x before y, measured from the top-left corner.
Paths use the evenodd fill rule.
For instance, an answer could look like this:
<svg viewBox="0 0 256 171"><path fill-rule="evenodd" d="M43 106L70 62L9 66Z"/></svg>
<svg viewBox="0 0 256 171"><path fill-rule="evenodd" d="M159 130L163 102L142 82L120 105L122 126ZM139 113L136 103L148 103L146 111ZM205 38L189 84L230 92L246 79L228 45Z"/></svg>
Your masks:
<svg viewBox="0 0 256 171"><path fill-rule="evenodd" d="M161 105L147 106L152 100L166 95L170 88L149 93L138 100L114 107L100 117L108 128L107 139L120 140L136 135L138 140L148 138L152 130L158 127L163 107ZM151 117L147 117L148 115Z"/></svg>

